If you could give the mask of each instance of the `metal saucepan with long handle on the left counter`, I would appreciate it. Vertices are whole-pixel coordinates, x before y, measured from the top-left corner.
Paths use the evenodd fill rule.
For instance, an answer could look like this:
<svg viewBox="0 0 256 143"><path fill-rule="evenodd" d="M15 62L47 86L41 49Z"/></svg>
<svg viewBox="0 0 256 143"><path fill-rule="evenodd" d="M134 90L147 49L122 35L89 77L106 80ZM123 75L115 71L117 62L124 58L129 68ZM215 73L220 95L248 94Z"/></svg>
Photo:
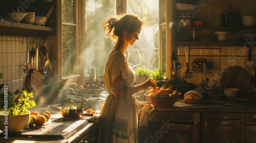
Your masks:
<svg viewBox="0 0 256 143"><path fill-rule="evenodd" d="M63 116L64 118L79 118L83 113L82 106L55 107L55 106L48 105L48 107L59 110L60 115Z"/></svg>

